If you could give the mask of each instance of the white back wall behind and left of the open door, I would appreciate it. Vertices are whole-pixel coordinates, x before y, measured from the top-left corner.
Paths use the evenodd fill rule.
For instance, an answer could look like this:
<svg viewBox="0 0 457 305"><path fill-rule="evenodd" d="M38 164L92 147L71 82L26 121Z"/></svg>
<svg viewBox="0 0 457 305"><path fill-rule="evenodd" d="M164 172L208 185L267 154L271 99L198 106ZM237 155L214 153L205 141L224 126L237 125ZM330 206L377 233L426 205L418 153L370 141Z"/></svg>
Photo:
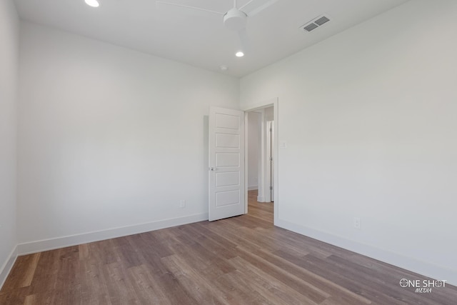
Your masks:
<svg viewBox="0 0 457 305"><path fill-rule="evenodd" d="M207 219L207 115L238 79L29 23L20 56L21 253Z"/></svg>

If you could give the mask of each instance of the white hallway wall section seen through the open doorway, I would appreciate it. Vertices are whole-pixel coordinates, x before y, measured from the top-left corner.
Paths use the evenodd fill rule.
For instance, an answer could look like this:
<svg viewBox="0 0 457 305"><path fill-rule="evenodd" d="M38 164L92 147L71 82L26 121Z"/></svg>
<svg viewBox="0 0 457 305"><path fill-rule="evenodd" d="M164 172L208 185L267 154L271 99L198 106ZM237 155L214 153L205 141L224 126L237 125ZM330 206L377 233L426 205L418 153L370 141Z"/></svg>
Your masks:
<svg viewBox="0 0 457 305"><path fill-rule="evenodd" d="M261 114L248 112L248 189L258 189L260 166Z"/></svg>

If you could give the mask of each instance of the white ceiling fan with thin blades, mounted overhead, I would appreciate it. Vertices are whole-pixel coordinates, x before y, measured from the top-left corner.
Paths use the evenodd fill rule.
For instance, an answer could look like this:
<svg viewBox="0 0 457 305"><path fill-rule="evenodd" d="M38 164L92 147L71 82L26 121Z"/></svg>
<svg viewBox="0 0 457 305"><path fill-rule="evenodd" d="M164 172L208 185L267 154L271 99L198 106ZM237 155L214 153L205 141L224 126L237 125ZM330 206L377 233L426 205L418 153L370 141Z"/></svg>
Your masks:
<svg viewBox="0 0 457 305"><path fill-rule="evenodd" d="M247 22L248 17L255 16L256 14L263 11L263 9L266 9L268 6L271 6L272 4L274 4L275 2L277 2L279 0L263 1L263 4L261 4L261 6L256 6L256 7L253 7L252 9L248 9L249 5L256 1L259 1L259 0L250 0L243 6L237 7L237 0L233 0L233 8L230 9L229 11L227 11L226 13L221 13L220 11L211 11L209 9L203 9L201 7L196 7L196 6L187 6L184 4L176 4L173 2L167 2L167 1L156 1L156 4L180 6L180 7L186 8L186 9L197 9L199 11L206 11L211 14L218 14L218 15L223 16L222 21L224 23L224 26L226 27L226 29L229 29L231 31L236 31L238 33L243 51L246 51L246 49L248 49L248 38L247 38L247 34L246 34L246 22Z"/></svg>

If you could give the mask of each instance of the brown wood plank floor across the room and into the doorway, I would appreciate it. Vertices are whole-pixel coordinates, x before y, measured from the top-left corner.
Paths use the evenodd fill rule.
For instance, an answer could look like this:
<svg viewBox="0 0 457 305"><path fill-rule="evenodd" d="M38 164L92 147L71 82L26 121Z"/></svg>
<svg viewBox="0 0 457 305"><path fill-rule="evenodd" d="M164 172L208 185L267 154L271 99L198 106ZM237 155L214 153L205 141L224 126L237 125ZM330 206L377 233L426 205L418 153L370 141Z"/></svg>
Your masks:
<svg viewBox="0 0 457 305"><path fill-rule="evenodd" d="M455 286L273 226L273 204L221 221L20 256L0 304L457 304Z"/></svg>

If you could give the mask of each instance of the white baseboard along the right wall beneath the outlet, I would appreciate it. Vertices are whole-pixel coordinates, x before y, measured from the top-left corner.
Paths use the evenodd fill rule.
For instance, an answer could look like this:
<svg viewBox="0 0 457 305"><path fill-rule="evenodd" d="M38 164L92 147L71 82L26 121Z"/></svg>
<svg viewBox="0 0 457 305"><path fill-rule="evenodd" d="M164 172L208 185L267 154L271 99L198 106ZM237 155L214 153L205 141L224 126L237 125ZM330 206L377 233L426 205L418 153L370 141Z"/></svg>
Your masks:
<svg viewBox="0 0 457 305"><path fill-rule="evenodd" d="M333 246L339 246L340 248L371 257L372 259L377 259L378 261L383 261L387 264L431 277L432 279L446 280L446 284L457 286L457 270L455 269L448 269L444 266L430 264L413 257L378 249L374 246L361 244L357 241L351 241L350 239L345 239L341 236L335 236L281 219L276 219L275 225L332 244Z"/></svg>

